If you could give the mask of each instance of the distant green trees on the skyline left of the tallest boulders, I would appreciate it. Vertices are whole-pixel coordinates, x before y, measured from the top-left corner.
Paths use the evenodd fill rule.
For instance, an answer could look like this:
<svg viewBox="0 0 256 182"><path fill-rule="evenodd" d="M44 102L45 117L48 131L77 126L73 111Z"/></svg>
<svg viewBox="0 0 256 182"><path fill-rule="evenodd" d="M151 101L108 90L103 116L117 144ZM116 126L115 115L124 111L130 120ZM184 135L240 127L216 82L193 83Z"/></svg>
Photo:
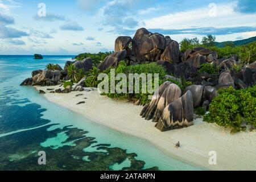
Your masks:
<svg viewBox="0 0 256 182"><path fill-rule="evenodd" d="M80 55L77 55L75 59L82 61L83 59L90 57L93 60L93 66L97 67L101 61L112 53L113 52L81 53Z"/></svg>

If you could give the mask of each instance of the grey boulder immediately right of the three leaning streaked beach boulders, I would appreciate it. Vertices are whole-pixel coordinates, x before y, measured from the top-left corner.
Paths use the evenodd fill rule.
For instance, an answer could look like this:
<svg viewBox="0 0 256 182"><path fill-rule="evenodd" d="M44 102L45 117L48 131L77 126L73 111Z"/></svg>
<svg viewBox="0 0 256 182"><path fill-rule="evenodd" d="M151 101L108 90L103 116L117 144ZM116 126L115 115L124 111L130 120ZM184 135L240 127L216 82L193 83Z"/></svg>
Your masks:
<svg viewBox="0 0 256 182"><path fill-rule="evenodd" d="M193 97L193 107L199 107L202 102L204 86L203 85L191 85L185 88L183 93L190 91Z"/></svg>

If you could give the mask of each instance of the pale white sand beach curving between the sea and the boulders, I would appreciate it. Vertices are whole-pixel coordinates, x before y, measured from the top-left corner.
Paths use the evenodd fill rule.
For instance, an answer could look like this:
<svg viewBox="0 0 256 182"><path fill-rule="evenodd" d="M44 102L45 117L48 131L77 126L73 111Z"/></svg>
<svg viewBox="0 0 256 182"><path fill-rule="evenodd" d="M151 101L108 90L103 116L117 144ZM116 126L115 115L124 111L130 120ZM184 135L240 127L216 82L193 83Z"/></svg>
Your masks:
<svg viewBox="0 0 256 182"><path fill-rule="evenodd" d="M154 127L155 123L141 118L142 106L100 96L97 90L57 94L49 93L47 88L60 87L36 87L46 92L44 97L47 100L106 127L148 140L172 158L210 170L256 170L255 131L230 134L223 127L196 119L194 126L162 133ZM77 94L83 95L76 97ZM76 105L80 101L85 101L85 104ZM175 148L178 141L181 146ZM217 152L216 165L208 162L210 151Z"/></svg>

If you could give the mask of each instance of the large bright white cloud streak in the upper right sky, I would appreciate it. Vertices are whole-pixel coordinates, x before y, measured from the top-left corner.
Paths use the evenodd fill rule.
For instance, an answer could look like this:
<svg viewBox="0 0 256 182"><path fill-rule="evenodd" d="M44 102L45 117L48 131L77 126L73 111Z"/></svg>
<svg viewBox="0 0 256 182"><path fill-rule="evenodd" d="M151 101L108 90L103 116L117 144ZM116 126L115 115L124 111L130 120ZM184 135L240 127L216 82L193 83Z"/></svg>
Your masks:
<svg viewBox="0 0 256 182"><path fill-rule="evenodd" d="M255 14L234 12L236 3L218 4L216 16L210 16L209 7L168 14L143 20L146 28L180 29L189 27L256 26Z"/></svg>

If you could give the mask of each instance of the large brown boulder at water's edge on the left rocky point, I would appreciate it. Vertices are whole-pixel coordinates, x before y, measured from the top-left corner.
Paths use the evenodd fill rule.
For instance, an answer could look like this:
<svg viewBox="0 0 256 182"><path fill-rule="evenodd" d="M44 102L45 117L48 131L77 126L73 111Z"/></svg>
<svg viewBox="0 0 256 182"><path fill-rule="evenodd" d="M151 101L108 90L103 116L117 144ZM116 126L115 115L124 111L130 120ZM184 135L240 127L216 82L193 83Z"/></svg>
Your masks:
<svg viewBox="0 0 256 182"><path fill-rule="evenodd" d="M60 81L60 77L61 77L60 71L45 70L32 78L32 85L42 85L42 86L57 85Z"/></svg>

